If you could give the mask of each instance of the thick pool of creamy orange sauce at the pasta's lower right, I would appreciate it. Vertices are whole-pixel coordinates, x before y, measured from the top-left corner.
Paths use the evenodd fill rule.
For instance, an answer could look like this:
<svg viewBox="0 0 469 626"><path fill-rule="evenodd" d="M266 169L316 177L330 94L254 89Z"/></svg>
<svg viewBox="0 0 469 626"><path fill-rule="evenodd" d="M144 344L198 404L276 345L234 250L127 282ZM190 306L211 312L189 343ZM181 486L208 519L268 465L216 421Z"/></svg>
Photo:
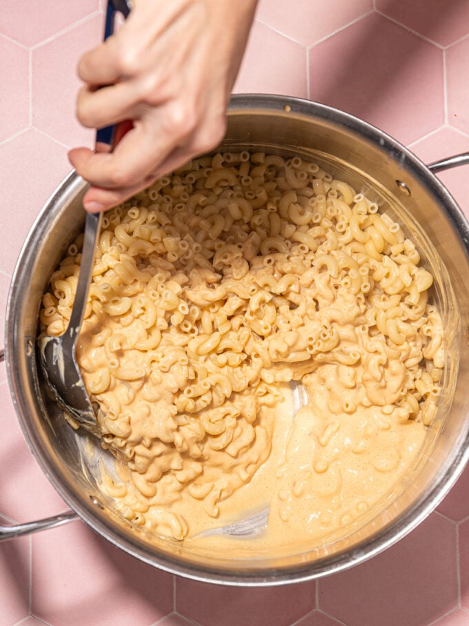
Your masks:
<svg viewBox="0 0 469 626"><path fill-rule="evenodd" d="M269 526L277 540L291 526L296 538L316 541L347 527L386 495L423 444L423 424L399 422L391 404L367 407L363 388L335 386L357 410L325 414L326 377L326 372L311 376L310 404L297 413L277 467Z"/></svg>

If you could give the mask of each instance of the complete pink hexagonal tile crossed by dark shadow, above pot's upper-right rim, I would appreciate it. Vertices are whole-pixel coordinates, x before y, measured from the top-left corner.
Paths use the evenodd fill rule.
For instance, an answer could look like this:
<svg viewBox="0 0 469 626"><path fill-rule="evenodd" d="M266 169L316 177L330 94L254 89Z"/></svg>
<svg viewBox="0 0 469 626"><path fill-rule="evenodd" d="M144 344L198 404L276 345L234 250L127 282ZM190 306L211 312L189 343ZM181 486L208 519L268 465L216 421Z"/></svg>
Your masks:
<svg viewBox="0 0 469 626"><path fill-rule="evenodd" d="M330 59L336 59L332 68ZM444 123L443 52L385 17L368 14L317 43L309 61L314 99L370 121L403 144Z"/></svg>

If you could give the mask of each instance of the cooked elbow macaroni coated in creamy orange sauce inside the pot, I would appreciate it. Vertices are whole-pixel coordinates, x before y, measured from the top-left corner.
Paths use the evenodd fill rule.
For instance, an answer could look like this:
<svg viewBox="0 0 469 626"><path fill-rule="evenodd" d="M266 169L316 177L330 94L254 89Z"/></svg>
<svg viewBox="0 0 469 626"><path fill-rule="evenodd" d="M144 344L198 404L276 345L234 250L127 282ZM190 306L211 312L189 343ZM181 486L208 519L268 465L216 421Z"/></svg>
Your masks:
<svg viewBox="0 0 469 626"><path fill-rule="evenodd" d="M43 297L48 335L68 324L81 240ZM270 463L281 534L357 518L435 415L431 285L399 224L300 157L203 157L112 209L77 359L117 456L123 482L103 478L117 507L183 540ZM292 381L308 391L293 420Z"/></svg>

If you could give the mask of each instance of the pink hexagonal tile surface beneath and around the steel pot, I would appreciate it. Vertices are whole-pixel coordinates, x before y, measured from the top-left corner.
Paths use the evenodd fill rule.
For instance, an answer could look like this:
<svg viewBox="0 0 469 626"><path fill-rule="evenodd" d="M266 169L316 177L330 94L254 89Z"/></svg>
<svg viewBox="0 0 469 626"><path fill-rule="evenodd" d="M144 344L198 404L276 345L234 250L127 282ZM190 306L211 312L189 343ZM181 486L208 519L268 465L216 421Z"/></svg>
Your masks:
<svg viewBox="0 0 469 626"><path fill-rule="evenodd" d="M23 239L91 144L74 120L81 51L99 0L2 0L0 327ZM306 97L381 127L424 162L469 150L468 0L260 0L237 92ZM468 170L441 174L469 215ZM13 217L14 216L14 217ZM3 345L3 341L0 346ZM17 425L0 364L0 516L65 509ZM250 589L177 578L81 522L0 544L0 626L469 625L469 468L397 545L317 582Z"/></svg>

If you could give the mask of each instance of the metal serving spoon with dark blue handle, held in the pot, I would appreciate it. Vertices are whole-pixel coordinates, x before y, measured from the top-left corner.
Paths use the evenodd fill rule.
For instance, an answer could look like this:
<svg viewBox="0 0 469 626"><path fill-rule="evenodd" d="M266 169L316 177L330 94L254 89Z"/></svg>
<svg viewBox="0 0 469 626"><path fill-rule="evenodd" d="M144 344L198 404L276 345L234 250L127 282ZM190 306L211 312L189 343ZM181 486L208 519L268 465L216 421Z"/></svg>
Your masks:
<svg viewBox="0 0 469 626"><path fill-rule="evenodd" d="M108 39L114 31L114 18L117 12L123 14L123 17L128 16L129 8L126 1L108 0L104 40ZM112 147L113 135L114 126L101 128L97 131L96 143L104 143ZM67 330L59 337L43 336L39 340L39 360L54 399L63 411L69 413L80 426L97 437L101 435L96 413L86 392L83 378L81 378L75 349L88 300L94 251L101 228L101 218L102 213L86 213L77 293Z"/></svg>

